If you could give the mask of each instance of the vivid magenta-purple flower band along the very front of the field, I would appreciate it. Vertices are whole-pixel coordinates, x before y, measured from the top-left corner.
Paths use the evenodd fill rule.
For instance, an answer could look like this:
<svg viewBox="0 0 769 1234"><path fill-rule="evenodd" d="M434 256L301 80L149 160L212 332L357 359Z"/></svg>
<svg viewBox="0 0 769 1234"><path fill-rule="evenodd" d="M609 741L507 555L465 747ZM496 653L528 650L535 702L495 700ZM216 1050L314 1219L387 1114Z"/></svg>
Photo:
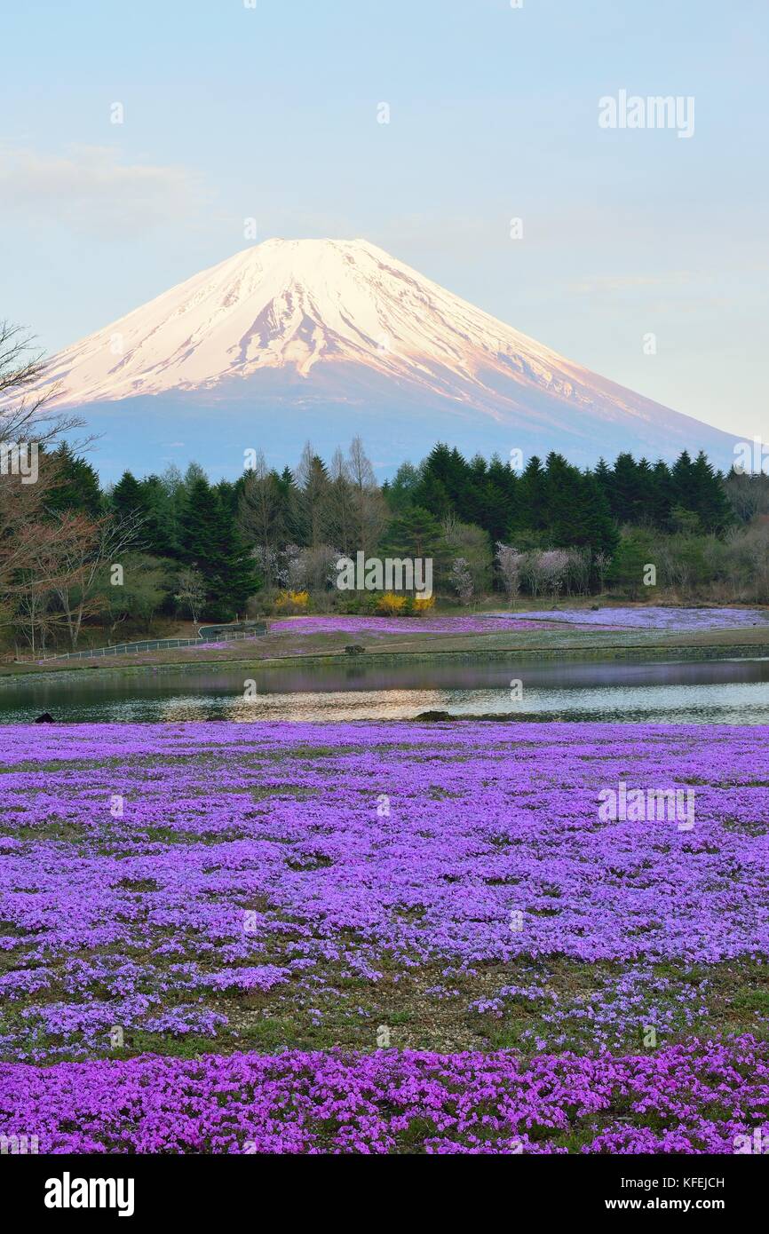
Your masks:
<svg viewBox="0 0 769 1234"><path fill-rule="evenodd" d="M734 1153L769 1133L769 1045L0 1065L0 1093L41 1153Z"/></svg>

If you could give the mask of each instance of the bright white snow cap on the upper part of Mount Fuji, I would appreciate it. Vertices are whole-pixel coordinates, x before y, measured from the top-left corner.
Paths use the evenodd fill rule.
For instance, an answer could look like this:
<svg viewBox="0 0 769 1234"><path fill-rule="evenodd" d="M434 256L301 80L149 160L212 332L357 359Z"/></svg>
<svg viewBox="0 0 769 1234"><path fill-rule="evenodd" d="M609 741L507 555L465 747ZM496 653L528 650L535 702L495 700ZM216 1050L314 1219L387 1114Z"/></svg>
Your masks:
<svg viewBox="0 0 769 1234"><path fill-rule="evenodd" d="M86 404L339 362L436 391L448 374L486 387L489 366L572 394L554 352L364 239L247 248L68 348L52 375L59 402Z"/></svg>

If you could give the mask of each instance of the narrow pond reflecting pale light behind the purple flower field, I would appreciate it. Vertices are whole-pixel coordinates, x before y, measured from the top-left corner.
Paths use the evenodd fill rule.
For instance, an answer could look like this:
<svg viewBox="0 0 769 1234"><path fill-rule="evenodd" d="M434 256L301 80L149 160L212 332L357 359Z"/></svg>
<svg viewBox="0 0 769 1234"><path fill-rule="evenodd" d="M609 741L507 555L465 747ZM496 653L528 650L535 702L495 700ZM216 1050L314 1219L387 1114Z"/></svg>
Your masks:
<svg viewBox="0 0 769 1234"><path fill-rule="evenodd" d="M253 685L248 685L248 682ZM511 684L520 681L521 687ZM246 697L246 692L253 697ZM37 676L0 682L0 723L351 721L452 714L769 723L769 658L681 663L463 660Z"/></svg>

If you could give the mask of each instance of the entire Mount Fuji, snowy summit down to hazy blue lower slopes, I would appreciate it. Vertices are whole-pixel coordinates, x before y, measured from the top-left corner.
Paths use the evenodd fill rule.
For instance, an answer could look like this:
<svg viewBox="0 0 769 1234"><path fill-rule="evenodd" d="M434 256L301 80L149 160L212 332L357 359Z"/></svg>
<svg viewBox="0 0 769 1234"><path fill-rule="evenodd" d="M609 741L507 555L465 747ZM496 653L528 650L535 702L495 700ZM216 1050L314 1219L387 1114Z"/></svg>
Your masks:
<svg viewBox="0 0 769 1234"><path fill-rule="evenodd" d="M360 434L381 474L437 441L465 454L622 449L737 438L564 359L365 241L269 239L60 352L51 406L100 434L105 473L197 459L215 476L262 448L291 463Z"/></svg>

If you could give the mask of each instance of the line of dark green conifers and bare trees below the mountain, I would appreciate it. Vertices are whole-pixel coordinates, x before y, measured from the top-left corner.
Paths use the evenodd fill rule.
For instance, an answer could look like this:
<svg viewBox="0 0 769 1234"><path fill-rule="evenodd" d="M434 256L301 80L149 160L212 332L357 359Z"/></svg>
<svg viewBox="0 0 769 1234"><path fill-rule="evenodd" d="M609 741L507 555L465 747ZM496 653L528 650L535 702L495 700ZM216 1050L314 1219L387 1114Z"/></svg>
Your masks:
<svg viewBox="0 0 769 1234"><path fill-rule="evenodd" d="M175 466L142 479L126 471L107 490L67 445L57 457L56 508L141 521L137 550L199 571L212 618L243 612L259 587L278 586L297 549L320 554L321 582L328 569L323 548L438 560L452 552L463 559L475 554L485 563L478 592L499 585L491 561L500 542L522 553L563 548L588 560L618 560L623 528L626 537L628 528L644 528L722 538L754 512L734 497L744 496L747 478L722 476L702 453L683 452L673 465L623 453L591 469L551 453L530 458L516 473L497 457L468 460L438 444L420 465L402 464L380 486L355 441L347 457L337 450L328 464L307 445L294 470L270 469L257 455L235 481L211 482L190 464L184 475Z"/></svg>

